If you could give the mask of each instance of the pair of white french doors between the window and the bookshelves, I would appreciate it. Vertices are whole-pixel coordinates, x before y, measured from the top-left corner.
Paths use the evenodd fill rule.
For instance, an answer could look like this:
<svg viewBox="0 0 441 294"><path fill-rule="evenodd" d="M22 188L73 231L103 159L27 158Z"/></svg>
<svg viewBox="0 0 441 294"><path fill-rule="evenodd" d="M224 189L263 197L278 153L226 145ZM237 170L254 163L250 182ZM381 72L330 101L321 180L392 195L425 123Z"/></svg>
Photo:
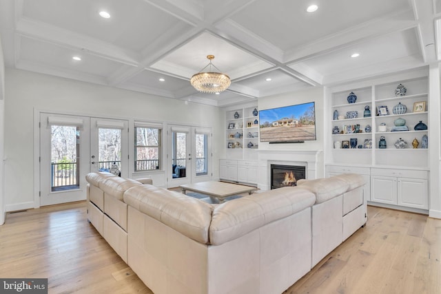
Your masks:
<svg viewBox="0 0 441 294"><path fill-rule="evenodd" d="M167 187L211 180L211 129L169 125L167 134Z"/></svg>

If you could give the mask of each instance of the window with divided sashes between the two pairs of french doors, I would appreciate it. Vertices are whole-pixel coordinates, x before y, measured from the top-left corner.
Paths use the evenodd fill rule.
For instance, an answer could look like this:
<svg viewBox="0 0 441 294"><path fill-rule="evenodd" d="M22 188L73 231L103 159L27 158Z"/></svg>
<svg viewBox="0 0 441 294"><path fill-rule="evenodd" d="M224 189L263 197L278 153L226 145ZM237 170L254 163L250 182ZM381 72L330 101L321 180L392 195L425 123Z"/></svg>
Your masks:
<svg viewBox="0 0 441 294"><path fill-rule="evenodd" d="M135 125L135 171L161 167L161 128Z"/></svg>

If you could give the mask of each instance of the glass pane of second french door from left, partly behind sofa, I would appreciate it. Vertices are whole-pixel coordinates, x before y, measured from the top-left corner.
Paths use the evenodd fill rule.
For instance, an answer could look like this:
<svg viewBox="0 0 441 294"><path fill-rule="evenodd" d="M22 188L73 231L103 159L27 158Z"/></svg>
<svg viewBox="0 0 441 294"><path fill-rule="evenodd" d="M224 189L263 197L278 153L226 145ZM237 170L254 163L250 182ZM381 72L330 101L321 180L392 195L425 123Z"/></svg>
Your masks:
<svg viewBox="0 0 441 294"><path fill-rule="evenodd" d="M98 129L99 171L121 174L121 129Z"/></svg>

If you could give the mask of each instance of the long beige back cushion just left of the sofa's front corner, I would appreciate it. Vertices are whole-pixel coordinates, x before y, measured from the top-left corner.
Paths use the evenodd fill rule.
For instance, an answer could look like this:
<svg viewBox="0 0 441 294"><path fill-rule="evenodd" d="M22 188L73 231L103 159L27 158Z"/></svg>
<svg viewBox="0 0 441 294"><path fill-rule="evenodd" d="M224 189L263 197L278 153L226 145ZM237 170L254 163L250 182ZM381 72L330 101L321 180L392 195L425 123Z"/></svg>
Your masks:
<svg viewBox="0 0 441 294"><path fill-rule="evenodd" d="M212 204L152 185L128 189L124 193L124 202L188 238L208 243Z"/></svg>

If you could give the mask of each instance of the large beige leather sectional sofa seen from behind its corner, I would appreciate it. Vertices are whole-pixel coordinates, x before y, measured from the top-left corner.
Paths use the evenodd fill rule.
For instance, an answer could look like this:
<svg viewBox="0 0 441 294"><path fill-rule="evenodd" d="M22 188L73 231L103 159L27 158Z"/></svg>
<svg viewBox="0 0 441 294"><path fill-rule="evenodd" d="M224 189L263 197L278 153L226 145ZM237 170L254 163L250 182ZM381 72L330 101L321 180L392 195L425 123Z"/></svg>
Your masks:
<svg viewBox="0 0 441 294"><path fill-rule="evenodd" d="M223 204L145 179L86 179L88 220L154 293L280 294L367 221L356 174Z"/></svg>

